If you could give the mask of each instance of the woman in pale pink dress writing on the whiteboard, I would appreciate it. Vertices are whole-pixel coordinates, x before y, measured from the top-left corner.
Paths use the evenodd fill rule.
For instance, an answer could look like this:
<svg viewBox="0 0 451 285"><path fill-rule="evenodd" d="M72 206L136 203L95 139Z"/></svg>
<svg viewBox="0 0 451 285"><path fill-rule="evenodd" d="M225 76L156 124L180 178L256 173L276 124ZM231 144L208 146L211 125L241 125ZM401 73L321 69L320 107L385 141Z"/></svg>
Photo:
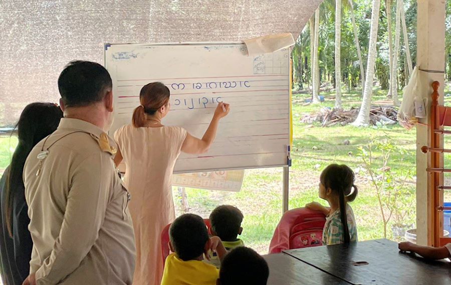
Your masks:
<svg viewBox="0 0 451 285"><path fill-rule="evenodd" d="M116 165L124 160L124 183L132 195L129 209L136 240L135 285L159 285L161 281L160 234L175 218L171 186L175 160L181 151L207 151L219 119L230 110L229 104L218 103L203 137L196 138L182 127L161 124L170 109L169 95L169 89L161 82L144 85L132 124L114 133L118 144L114 160Z"/></svg>

